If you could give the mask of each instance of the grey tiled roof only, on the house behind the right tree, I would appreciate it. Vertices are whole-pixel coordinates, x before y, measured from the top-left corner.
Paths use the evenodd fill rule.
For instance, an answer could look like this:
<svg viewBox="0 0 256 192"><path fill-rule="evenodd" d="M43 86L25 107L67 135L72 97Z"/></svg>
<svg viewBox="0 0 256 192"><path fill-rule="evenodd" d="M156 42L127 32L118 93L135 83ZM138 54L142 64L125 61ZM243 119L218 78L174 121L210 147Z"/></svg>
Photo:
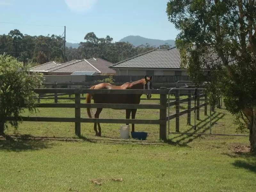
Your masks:
<svg viewBox="0 0 256 192"><path fill-rule="evenodd" d="M209 68L210 63L220 62L220 58L216 52L205 57L205 66ZM231 61L231 60L230 60ZM120 61L110 68L154 68L154 69L180 69L180 51L177 47L170 49L154 49L140 55L134 56L124 61Z"/></svg>

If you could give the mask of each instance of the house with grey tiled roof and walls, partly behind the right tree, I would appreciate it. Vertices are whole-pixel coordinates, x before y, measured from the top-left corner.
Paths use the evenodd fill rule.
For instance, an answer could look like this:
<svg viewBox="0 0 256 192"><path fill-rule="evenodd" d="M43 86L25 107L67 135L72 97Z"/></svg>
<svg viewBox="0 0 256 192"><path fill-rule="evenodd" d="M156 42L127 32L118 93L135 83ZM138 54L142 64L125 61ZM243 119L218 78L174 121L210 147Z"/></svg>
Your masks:
<svg viewBox="0 0 256 192"><path fill-rule="evenodd" d="M126 76L187 76L187 70L180 67L180 51L177 47L154 49L127 60L120 61L109 68L116 69L116 75ZM209 70L205 69L207 74Z"/></svg>

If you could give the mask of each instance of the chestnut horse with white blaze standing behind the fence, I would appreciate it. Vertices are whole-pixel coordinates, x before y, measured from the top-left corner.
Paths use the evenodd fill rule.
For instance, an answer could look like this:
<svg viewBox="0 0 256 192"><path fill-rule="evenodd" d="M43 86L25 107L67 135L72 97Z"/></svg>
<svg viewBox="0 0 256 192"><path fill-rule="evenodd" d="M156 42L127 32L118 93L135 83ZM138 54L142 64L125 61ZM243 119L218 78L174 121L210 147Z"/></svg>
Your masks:
<svg viewBox="0 0 256 192"><path fill-rule="evenodd" d="M109 83L100 83L92 86L90 89L151 89L152 76L145 76L143 79L134 82L127 82L120 86ZM142 94L90 94L86 96L86 103L91 103L91 98L94 103L113 103L113 104L140 104L140 97ZM151 94L147 94L147 99L150 100ZM115 109L115 108L113 108ZM126 119L130 119L132 112L132 119L135 119L137 109L125 109ZM99 118L102 108L97 108L94 118ZM87 108L89 118L92 118L91 108ZM97 124L99 132L97 131ZM127 124L128 125L128 124ZM101 136L101 128L99 123L94 123L94 131L96 136ZM132 132L134 132L134 124L132 124Z"/></svg>

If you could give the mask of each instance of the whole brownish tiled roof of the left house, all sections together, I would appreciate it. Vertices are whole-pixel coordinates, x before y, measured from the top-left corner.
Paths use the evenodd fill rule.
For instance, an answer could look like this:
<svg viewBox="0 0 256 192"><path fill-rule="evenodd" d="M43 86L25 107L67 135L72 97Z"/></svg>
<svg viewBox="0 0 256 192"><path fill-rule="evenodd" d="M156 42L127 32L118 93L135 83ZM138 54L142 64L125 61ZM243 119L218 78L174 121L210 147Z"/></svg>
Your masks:
<svg viewBox="0 0 256 192"><path fill-rule="evenodd" d="M44 65L44 64L43 64ZM30 71L42 72L44 75L71 75L74 72L91 72L98 75L115 75L116 70L110 69L113 63L100 58L72 60L66 63L52 66L36 66Z"/></svg>

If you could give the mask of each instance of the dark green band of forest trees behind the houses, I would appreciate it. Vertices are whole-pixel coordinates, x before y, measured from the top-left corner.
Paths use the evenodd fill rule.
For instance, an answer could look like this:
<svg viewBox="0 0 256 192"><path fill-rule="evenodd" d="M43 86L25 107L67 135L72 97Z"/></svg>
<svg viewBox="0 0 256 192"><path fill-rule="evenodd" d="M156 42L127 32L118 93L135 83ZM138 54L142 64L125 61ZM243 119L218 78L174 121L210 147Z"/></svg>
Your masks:
<svg viewBox="0 0 256 192"><path fill-rule="evenodd" d="M98 57L116 63L154 48L149 44L135 47L130 43L113 42L110 36L99 38L90 32L85 35L84 42L80 42L77 49L66 47L65 61ZM158 48L170 46L164 44ZM64 62L64 38L57 35L23 35L18 29L14 29L8 34L0 35L0 54L4 52L24 64L33 62L33 65L37 65L52 60Z"/></svg>

